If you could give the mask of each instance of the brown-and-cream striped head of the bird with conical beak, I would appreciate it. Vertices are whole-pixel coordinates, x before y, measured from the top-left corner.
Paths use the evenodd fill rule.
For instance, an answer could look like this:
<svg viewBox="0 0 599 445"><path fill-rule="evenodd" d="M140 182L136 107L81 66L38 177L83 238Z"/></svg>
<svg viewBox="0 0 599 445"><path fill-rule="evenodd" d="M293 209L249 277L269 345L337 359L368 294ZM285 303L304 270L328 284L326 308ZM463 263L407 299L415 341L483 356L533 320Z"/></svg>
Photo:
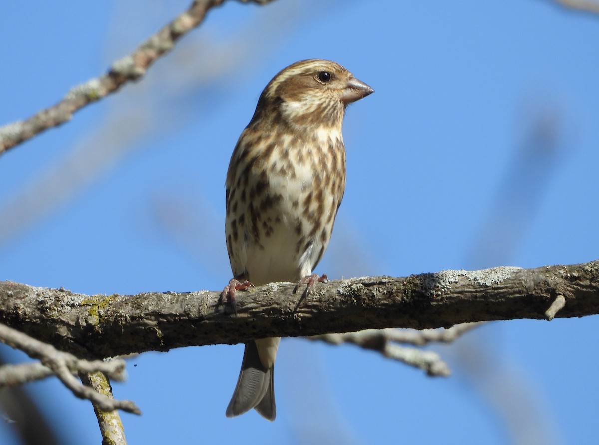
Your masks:
<svg viewBox="0 0 599 445"><path fill-rule="evenodd" d="M295 129L338 126L345 108L374 90L338 63L301 60L282 69L260 96L252 123L282 120Z"/></svg>

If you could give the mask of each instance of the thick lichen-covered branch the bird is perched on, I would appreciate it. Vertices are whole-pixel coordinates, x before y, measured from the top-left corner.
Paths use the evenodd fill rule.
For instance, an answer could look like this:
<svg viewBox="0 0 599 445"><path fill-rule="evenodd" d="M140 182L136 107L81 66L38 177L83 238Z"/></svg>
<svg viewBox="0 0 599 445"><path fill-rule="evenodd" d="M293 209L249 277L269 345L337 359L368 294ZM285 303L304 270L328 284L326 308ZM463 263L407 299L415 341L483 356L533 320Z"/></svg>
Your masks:
<svg viewBox="0 0 599 445"><path fill-rule="evenodd" d="M86 296L0 281L0 320L59 349L108 357L263 337L545 319L558 295L565 305L555 316L580 317L599 313L599 261L330 281L307 301L293 288L274 283L240 293L233 316L217 304L220 292Z"/></svg>

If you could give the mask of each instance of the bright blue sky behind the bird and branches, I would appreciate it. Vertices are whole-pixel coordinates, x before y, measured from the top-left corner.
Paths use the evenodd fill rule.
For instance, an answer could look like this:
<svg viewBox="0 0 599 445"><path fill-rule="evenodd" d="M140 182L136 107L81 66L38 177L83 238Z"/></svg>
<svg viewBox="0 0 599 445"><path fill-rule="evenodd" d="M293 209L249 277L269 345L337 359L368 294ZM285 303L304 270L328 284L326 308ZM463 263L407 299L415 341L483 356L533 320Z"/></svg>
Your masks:
<svg viewBox="0 0 599 445"><path fill-rule="evenodd" d="M188 1L0 4L0 123L105 72ZM317 272L407 276L598 257L599 16L550 0L225 2L140 82L0 158L0 280L81 293L222 289L231 150L281 68L340 62L347 188ZM242 346L146 353L116 383L129 443L597 443L597 317L486 325L431 379L283 340L277 419L224 415ZM8 353L8 352L5 352ZM21 358L20 355L13 355ZM135 366L134 366L135 365ZM68 443L89 402L29 385ZM0 443L15 443L0 423Z"/></svg>

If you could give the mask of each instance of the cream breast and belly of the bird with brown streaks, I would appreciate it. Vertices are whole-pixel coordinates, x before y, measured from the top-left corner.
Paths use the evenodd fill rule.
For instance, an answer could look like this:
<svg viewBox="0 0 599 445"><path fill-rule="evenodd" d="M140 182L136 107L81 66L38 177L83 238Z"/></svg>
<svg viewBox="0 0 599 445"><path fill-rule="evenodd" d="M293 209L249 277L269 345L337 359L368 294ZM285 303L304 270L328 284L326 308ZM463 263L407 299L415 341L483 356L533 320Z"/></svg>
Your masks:
<svg viewBox="0 0 599 445"><path fill-rule="evenodd" d="M283 135L242 156L228 187L226 235L234 274L254 284L311 273L331 238L345 187L340 131ZM258 155L258 156L256 156ZM237 269L237 271L235 270Z"/></svg>

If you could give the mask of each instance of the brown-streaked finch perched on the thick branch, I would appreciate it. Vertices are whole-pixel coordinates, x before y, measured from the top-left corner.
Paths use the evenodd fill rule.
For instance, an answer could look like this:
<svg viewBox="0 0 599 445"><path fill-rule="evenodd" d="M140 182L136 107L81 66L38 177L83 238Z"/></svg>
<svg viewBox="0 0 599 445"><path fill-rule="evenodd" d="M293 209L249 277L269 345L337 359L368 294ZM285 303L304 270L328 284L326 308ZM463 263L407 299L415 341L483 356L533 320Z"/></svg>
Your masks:
<svg viewBox="0 0 599 445"><path fill-rule="evenodd" d="M288 66L262 91L226 176L225 235L234 278L221 299L234 305L235 290L276 281L307 284L308 296L326 278L313 270L345 189L343 116L348 104L373 92L338 63L317 59ZM227 417L255 408L274 420L279 341L246 343Z"/></svg>

